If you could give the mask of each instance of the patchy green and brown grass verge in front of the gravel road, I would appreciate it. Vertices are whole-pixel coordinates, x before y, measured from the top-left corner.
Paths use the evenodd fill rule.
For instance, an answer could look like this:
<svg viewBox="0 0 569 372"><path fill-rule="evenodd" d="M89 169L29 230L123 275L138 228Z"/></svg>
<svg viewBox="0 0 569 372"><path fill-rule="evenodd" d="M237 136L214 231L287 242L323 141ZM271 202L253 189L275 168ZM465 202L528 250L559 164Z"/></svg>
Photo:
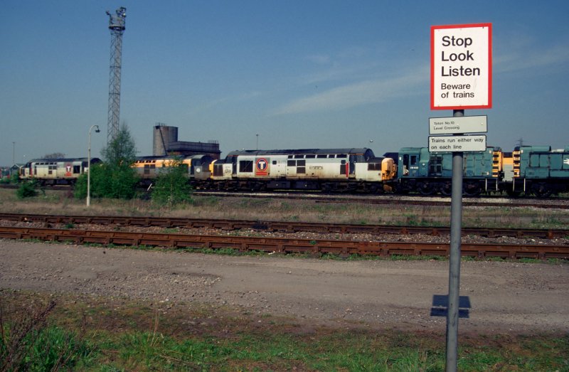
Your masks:
<svg viewBox="0 0 569 372"><path fill-rule="evenodd" d="M203 304L0 291L4 334L33 304L52 301L26 371L56 361L80 371L442 371L445 335L297 323ZM444 331L443 331L444 332ZM4 350L4 349L3 349ZM63 356L63 357L62 357ZM34 360L33 363L28 363ZM41 361L41 363L39 363ZM46 363L45 361L50 361ZM55 361L55 362L54 362ZM5 363L6 358L1 360ZM37 364L34 364L37 363ZM18 364L18 366L20 366ZM460 371L567 371L569 336L464 336ZM16 368L17 369L17 368ZM20 370L23 370L20 368Z"/></svg>

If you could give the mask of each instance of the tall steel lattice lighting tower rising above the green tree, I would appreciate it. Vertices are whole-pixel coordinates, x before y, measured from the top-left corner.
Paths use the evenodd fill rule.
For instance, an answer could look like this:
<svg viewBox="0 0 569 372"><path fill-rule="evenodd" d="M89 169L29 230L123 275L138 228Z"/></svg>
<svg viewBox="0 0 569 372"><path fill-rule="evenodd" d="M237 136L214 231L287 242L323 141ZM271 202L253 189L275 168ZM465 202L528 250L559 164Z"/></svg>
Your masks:
<svg viewBox="0 0 569 372"><path fill-rule="evenodd" d="M127 9L121 6L109 16L109 29L111 31L111 59L109 81L109 119L107 122L107 144L110 144L119 133L120 114L120 68L122 58L122 33L124 33L124 18Z"/></svg>

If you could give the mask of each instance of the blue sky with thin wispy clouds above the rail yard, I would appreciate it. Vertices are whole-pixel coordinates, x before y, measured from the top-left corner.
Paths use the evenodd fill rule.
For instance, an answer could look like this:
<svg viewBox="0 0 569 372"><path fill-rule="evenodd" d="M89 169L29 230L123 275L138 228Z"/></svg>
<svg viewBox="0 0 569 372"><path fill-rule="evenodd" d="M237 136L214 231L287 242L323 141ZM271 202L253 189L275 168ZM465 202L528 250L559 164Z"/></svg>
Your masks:
<svg viewBox="0 0 569 372"><path fill-rule="evenodd" d="M430 26L492 23L487 144L569 145L569 1L22 1L0 13L0 165L107 140L110 31L127 8L120 122L234 149L426 146ZM373 140L373 142L371 142ZM15 144L14 144L15 142Z"/></svg>

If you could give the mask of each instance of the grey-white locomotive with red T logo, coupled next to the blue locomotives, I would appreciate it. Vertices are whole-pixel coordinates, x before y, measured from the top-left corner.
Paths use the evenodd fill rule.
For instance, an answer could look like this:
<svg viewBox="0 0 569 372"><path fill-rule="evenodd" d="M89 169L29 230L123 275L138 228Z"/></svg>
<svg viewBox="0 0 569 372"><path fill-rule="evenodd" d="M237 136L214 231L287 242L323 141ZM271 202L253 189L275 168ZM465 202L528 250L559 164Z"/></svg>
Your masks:
<svg viewBox="0 0 569 372"><path fill-rule="evenodd" d="M393 159L371 149L243 150L212 161L206 188L218 190L383 191Z"/></svg>

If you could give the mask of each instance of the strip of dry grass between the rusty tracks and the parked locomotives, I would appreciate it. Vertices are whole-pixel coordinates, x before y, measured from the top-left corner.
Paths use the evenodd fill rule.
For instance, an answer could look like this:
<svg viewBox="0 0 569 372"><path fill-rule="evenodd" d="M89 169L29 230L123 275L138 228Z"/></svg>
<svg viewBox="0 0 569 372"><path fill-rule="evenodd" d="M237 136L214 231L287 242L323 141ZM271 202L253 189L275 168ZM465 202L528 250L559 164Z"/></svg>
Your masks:
<svg viewBox="0 0 569 372"><path fill-rule="evenodd" d="M157 216L173 218L220 218L294 222L352 223L358 225L450 225L450 207L413 206L397 203L376 206L369 203L318 203L279 198L248 198L193 195L191 203L156 208L151 201L97 199L90 208L85 201L65 192L46 190L45 195L18 199L13 189L0 189L0 203L6 213L70 215ZM464 227L565 228L569 213L555 209L464 207Z"/></svg>

